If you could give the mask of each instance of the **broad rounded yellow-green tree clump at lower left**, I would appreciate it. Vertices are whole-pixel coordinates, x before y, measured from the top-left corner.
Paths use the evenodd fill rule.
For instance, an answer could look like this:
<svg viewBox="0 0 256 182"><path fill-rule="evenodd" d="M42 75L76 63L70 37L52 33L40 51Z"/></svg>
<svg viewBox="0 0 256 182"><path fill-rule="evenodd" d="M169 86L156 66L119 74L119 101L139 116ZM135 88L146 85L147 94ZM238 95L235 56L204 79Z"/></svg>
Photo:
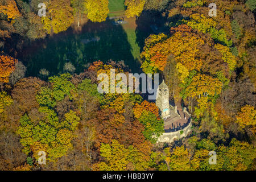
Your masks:
<svg viewBox="0 0 256 182"><path fill-rule="evenodd" d="M45 151L47 160L56 162L56 159L67 154L72 148L72 139L80 118L74 111L65 115L64 121L59 121L55 111L48 107L39 107L43 114L39 121L32 121L27 114L24 114L19 122L20 126L16 131L20 135L20 143L23 145L23 152L28 155L33 152L35 159L39 151Z"/></svg>

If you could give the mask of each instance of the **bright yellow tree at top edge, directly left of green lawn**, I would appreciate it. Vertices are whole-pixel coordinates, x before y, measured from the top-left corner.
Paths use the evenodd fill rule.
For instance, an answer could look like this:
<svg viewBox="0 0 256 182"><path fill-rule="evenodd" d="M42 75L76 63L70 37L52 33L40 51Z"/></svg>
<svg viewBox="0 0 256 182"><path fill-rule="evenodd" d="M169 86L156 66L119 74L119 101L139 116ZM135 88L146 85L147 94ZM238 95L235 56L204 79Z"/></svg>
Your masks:
<svg viewBox="0 0 256 182"><path fill-rule="evenodd" d="M108 0L86 0L85 7L88 12L87 17L92 22L103 22L109 13Z"/></svg>

